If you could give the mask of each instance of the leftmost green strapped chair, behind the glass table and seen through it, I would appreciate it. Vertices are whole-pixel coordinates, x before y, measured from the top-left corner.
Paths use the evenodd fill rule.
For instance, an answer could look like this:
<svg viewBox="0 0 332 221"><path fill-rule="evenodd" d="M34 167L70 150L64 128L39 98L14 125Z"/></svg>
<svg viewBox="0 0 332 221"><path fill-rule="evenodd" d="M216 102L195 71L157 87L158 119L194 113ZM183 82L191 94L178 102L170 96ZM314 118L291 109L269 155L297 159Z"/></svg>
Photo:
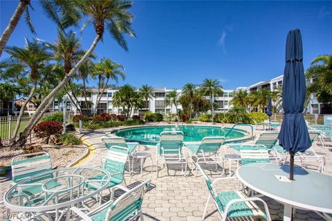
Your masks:
<svg viewBox="0 0 332 221"><path fill-rule="evenodd" d="M29 153L13 157L11 166L12 183L10 186L15 185L21 180L24 180L33 175L52 171L50 155L48 155L46 152ZM42 181L50 178L53 178L52 173L48 173L47 175L40 177L40 180ZM52 187L59 186L59 184L55 181L49 183ZM40 184L31 184L31 186L25 185L25 187L22 188L22 193L27 195L38 195L39 193L43 192L44 191L42 191L42 186Z"/></svg>

